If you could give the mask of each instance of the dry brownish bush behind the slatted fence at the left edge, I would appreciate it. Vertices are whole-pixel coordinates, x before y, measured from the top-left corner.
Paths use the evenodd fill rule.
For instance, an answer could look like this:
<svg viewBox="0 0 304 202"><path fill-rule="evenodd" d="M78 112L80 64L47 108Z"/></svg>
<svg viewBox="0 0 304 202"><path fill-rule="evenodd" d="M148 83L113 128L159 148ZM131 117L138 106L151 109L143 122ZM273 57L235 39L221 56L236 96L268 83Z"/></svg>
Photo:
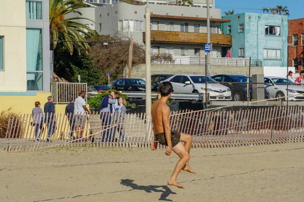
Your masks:
<svg viewBox="0 0 304 202"><path fill-rule="evenodd" d="M12 108L0 112L0 138L6 137L9 122L10 126L14 127L16 125L15 129L12 128L11 138L21 138L24 132L24 124L20 119L20 113L13 112Z"/></svg>

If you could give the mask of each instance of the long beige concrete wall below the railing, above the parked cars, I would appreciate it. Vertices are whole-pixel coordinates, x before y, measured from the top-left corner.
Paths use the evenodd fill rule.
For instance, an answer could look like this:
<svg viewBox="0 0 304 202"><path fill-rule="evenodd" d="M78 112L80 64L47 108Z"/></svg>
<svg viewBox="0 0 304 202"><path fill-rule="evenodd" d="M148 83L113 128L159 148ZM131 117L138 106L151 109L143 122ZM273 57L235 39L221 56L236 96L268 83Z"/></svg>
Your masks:
<svg viewBox="0 0 304 202"><path fill-rule="evenodd" d="M125 75L129 74L128 68ZM205 74L203 65L165 65L151 64L151 75L153 74ZM217 74L239 74L248 76L249 67L242 66L211 66L210 76ZM251 67L250 74L264 74L263 67ZM145 78L145 64L132 68L132 78Z"/></svg>

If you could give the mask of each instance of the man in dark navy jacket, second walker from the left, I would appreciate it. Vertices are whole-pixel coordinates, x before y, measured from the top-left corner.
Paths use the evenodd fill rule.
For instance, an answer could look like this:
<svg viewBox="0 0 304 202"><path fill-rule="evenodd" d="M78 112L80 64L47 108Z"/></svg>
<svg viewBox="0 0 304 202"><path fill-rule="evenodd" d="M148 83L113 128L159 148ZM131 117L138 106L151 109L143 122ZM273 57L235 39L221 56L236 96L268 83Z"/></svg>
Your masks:
<svg viewBox="0 0 304 202"><path fill-rule="evenodd" d="M48 127L47 142L52 142L51 135L56 130L56 117L55 117L55 105L53 96L48 96L48 102L44 106L45 122Z"/></svg>

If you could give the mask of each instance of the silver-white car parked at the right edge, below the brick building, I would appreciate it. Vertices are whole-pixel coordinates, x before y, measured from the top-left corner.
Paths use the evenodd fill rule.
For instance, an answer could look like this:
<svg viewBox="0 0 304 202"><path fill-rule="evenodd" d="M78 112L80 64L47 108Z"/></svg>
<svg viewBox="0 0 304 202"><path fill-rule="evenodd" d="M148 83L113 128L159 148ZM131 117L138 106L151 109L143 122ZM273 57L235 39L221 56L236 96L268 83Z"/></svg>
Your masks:
<svg viewBox="0 0 304 202"><path fill-rule="evenodd" d="M287 81L289 83L288 96L294 95L288 97L288 100L304 100L304 95L296 95L304 93L303 86L295 85L295 83L283 77L264 77L264 82L269 86L268 89L272 98L287 96ZM287 97L278 100L287 100Z"/></svg>

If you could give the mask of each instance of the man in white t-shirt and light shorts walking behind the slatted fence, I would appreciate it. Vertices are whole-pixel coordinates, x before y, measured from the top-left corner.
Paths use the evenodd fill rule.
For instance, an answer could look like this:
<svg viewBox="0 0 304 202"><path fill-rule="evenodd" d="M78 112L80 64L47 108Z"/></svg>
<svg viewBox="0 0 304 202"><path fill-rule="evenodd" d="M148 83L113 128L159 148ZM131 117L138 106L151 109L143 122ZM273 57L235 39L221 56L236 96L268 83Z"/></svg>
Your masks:
<svg viewBox="0 0 304 202"><path fill-rule="evenodd" d="M79 138L79 127L80 127L80 137L83 136L84 133L84 128L85 128L85 123L87 119L87 113L90 111L88 110L86 106L86 92L81 91L79 93L79 96L75 99L74 102L74 117L75 117L75 137L78 139Z"/></svg>

